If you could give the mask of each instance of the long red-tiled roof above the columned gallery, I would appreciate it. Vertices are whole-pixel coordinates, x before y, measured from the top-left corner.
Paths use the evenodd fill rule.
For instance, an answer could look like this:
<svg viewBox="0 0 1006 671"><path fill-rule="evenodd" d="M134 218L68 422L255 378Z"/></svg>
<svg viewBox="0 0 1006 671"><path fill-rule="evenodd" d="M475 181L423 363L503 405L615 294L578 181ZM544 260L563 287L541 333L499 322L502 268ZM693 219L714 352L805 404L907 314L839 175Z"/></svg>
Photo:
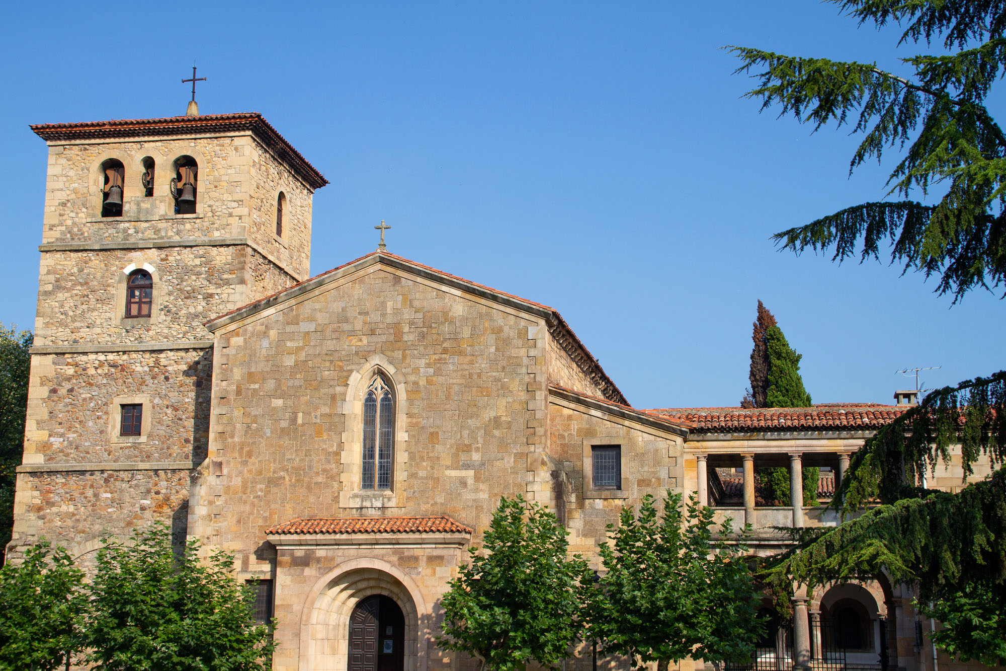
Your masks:
<svg viewBox="0 0 1006 671"><path fill-rule="evenodd" d="M878 428L911 406L823 403L810 408L654 408L651 414L694 425L696 432L749 429Z"/></svg>

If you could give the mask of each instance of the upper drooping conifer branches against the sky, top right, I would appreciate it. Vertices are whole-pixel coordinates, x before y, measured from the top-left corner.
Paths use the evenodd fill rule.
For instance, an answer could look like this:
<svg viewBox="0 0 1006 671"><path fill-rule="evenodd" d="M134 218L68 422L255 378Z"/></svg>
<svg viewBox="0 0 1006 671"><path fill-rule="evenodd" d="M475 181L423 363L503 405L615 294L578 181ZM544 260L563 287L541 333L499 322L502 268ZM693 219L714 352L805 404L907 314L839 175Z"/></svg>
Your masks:
<svg viewBox="0 0 1006 671"><path fill-rule="evenodd" d="M955 301L976 287L1006 282L1006 135L984 101L1006 75L1002 0L830 0L860 24L903 28L899 43L941 41L952 51L901 58L898 77L876 62L843 62L728 47L760 86L747 97L779 106L814 129L850 125L863 139L850 171L885 150L900 152L887 184L890 202L864 203L774 238L800 253L833 249L842 261L879 258L940 277ZM911 199L932 190L935 205ZM857 252L858 249L858 252Z"/></svg>

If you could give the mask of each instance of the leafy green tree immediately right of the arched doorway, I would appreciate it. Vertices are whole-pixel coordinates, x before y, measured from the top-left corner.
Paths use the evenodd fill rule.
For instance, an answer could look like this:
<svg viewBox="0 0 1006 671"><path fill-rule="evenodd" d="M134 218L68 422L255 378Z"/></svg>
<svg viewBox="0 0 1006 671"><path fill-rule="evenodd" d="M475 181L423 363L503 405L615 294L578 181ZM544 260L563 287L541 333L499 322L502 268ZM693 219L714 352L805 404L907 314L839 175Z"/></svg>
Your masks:
<svg viewBox="0 0 1006 671"><path fill-rule="evenodd" d="M566 556L566 530L540 504L503 497L483 550L444 594L444 634L437 645L465 652L482 669L521 669L529 660L547 668L568 656L583 628L586 562Z"/></svg>

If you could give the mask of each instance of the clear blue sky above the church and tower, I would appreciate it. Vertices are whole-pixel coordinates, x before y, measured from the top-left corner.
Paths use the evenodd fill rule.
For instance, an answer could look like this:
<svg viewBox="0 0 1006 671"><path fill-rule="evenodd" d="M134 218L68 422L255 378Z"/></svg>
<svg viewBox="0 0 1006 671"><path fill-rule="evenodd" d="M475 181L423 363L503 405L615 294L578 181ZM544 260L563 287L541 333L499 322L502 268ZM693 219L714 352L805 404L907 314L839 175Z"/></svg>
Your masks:
<svg viewBox="0 0 1006 671"><path fill-rule="evenodd" d="M756 302L815 402L890 402L1003 368L1006 303L776 251L883 197L856 138L759 114L719 47L877 60L897 33L817 2L14 3L0 321L34 322L46 148L29 123L258 111L331 180L312 273L388 249L556 307L637 407L735 405ZM1001 107L997 92L992 109Z"/></svg>

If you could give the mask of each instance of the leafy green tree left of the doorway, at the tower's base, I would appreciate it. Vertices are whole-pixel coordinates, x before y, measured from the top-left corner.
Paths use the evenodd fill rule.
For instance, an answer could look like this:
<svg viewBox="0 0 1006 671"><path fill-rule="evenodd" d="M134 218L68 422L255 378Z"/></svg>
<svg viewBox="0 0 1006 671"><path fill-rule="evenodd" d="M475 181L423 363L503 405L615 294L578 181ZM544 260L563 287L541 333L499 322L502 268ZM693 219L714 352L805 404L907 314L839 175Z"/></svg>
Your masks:
<svg viewBox="0 0 1006 671"><path fill-rule="evenodd" d="M255 598L233 578L233 555L176 555L155 524L127 541L107 538L90 588L87 660L101 671L265 671L272 625L254 622Z"/></svg>

